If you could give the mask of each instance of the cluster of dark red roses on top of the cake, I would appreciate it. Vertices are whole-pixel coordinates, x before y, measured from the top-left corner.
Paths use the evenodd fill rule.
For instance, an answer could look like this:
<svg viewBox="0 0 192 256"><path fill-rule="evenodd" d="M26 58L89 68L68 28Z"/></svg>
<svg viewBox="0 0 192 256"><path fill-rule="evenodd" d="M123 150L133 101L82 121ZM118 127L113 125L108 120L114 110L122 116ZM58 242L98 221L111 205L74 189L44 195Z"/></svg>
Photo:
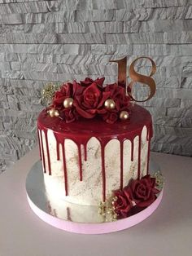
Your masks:
<svg viewBox="0 0 192 256"><path fill-rule="evenodd" d="M71 122L79 117L93 118L100 116L109 124L113 124L120 117L120 111L129 112L129 96L125 95L124 87L116 83L103 86L105 78L93 80L89 77L81 82L67 82L55 92L55 96L50 108L59 110L59 117L63 121ZM67 98L72 98L71 108L64 108L63 102ZM113 99L116 107L105 108L105 101Z"/></svg>

